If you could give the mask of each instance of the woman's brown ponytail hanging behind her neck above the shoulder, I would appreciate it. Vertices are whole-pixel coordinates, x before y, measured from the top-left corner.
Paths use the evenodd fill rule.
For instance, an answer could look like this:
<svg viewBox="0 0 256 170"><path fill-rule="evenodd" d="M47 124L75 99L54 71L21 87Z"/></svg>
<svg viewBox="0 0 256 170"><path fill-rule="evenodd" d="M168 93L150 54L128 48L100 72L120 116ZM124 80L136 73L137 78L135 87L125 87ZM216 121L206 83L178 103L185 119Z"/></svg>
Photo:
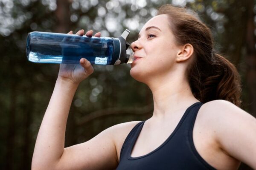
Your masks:
<svg viewBox="0 0 256 170"><path fill-rule="evenodd" d="M213 52L210 65L194 66L187 70L187 77L195 98L203 103L223 99L240 106L240 77L230 61Z"/></svg>

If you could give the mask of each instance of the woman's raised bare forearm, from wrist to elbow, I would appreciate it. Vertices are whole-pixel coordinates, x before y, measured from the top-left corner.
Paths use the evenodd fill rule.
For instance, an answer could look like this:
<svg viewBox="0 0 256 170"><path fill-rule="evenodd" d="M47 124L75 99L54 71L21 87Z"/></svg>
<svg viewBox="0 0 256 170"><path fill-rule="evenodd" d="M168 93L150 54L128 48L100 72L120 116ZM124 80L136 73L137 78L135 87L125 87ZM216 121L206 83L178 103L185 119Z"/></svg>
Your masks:
<svg viewBox="0 0 256 170"><path fill-rule="evenodd" d="M64 150L67 117L78 85L57 79L35 143L33 165L53 166Z"/></svg>

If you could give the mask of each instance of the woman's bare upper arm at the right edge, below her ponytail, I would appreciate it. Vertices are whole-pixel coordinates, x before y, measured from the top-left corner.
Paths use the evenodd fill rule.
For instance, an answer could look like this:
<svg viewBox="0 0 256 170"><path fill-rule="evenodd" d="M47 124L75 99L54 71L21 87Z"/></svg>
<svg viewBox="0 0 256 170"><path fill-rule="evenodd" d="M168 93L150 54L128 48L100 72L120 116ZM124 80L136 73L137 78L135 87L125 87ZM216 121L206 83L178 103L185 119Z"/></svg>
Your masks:
<svg viewBox="0 0 256 170"><path fill-rule="evenodd" d="M224 100L213 102L216 137L221 149L256 169L256 119Z"/></svg>

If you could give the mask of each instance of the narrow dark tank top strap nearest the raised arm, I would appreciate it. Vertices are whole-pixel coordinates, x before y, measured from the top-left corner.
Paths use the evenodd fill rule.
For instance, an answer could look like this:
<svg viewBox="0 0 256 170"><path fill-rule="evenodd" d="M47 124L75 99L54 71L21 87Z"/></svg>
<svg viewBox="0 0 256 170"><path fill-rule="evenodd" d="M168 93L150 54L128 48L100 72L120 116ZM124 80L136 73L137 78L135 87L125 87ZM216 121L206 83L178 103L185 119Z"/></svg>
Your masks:
<svg viewBox="0 0 256 170"><path fill-rule="evenodd" d="M140 131L144 125L144 122L145 120L135 125L130 131L130 133L128 134L128 136L126 137L125 142L122 145L122 149L120 151L120 159L119 159L120 161L122 158L126 158L127 154L129 154L129 150L131 149L130 147L132 147L134 142L136 142L136 139L140 134Z"/></svg>

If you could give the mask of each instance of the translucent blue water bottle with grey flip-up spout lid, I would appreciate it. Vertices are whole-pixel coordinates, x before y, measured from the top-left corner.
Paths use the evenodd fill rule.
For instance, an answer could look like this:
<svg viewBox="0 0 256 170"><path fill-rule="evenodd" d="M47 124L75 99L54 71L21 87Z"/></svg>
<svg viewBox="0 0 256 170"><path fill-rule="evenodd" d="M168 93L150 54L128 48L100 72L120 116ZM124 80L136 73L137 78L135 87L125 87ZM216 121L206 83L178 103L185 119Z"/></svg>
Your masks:
<svg viewBox="0 0 256 170"><path fill-rule="evenodd" d="M35 31L28 34L26 54L29 61L38 63L77 64L86 58L92 64L119 65L132 61L126 54L129 34L126 29L119 38L99 38Z"/></svg>

